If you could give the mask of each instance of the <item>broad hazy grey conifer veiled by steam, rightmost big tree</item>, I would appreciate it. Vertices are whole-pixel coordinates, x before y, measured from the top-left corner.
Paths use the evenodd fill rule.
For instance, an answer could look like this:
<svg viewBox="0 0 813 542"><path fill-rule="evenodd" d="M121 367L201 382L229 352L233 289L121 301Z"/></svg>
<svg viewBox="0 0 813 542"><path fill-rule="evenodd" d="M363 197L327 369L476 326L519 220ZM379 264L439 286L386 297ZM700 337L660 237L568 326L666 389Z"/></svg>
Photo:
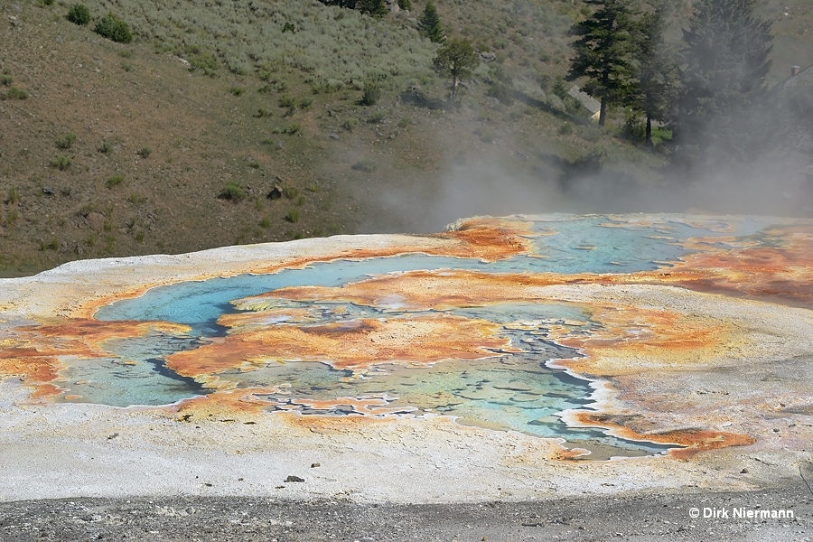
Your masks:
<svg viewBox="0 0 813 542"><path fill-rule="evenodd" d="M677 161L714 167L746 158L759 146L754 115L771 68L770 24L755 0L698 0L683 31L684 69L677 102Z"/></svg>

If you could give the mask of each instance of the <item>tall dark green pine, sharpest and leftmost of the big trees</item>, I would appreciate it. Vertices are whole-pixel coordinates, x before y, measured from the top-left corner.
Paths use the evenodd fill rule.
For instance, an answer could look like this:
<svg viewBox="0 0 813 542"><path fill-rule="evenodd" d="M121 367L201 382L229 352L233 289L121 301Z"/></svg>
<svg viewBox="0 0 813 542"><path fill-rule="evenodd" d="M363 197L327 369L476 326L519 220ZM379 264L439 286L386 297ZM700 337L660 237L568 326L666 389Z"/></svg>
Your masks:
<svg viewBox="0 0 813 542"><path fill-rule="evenodd" d="M598 9L570 30L578 39L566 79L588 79L584 90L601 100L599 126L604 126L607 107L630 101L635 89L634 13L631 0L584 1Z"/></svg>

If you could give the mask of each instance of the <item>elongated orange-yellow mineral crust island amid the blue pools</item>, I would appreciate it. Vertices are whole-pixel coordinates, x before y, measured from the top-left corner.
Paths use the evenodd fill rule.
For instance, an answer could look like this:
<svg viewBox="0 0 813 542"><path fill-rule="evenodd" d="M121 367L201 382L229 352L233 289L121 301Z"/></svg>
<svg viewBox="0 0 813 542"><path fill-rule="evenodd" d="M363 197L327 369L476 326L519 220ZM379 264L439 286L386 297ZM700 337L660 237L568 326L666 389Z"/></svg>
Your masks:
<svg viewBox="0 0 813 542"><path fill-rule="evenodd" d="M196 350L167 357L167 367L206 380L229 369L251 369L271 361L328 363L363 370L379 363L431 364L481 360L510 351L500 326L445 314L416 318L359 319L324 325L280 325L229 334Z"/></svg>

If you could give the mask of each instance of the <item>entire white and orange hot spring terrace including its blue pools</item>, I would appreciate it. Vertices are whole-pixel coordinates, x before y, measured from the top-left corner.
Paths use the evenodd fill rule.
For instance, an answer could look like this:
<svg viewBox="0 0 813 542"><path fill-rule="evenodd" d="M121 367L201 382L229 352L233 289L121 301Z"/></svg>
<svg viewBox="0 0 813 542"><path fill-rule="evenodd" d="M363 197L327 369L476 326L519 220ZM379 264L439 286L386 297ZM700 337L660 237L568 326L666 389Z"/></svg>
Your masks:
<svg viewBox="0 0 813 542"><path fill-rule="evenodd" d="M478 217L0 279L0 500L775 487L809 462L811 308L813 221L744 216Z"/></svg>

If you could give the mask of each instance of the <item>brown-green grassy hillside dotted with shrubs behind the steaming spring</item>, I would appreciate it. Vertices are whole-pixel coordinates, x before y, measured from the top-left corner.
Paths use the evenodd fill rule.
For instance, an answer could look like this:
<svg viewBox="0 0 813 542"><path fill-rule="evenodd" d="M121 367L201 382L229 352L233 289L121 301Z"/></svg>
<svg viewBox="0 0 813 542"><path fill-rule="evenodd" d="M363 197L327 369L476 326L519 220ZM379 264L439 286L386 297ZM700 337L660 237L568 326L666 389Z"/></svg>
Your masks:
<svg viewBox="0 0 813 542"><path fill-rule="evenodd" d="M540 88L566 70L581 3L439 3L448 33L495 56L456 106L415 13L87 5L130 23L135 42L70 23L67 4L0 8L0 276L77 258L433 231L477 213L635 210L630 191L659 179L658 154L551 107ZM802 7L776 15L792 44L776 51L813 51ZM514 99L488 95L500 78ZM361 105L371 81L381 97ZM275 186L282 197L268 199Z"/></svg>

